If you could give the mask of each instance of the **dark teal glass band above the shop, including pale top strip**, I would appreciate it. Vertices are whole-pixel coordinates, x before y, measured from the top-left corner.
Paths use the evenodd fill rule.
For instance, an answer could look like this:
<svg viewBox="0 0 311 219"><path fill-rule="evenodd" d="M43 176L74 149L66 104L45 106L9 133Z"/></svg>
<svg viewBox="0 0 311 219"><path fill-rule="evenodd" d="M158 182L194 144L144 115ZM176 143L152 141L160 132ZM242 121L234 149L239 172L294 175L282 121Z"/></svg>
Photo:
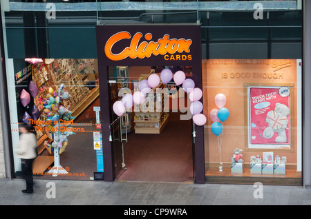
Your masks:
<svg viewBox="0 0 311 219"><path fill-rule="evenodd" d="M255 17L255 3L261 3L262 17ZM220 53L213 46L226 43L256 42L260 50L260 43L299 48L302 17L298 6L299 1L1 1L8 57L20 59L31 43L26 43L28 37L35 40L34 52L48 48L48 56L54 58L96 58L95 26L105 23L200 24L206 59L219 58L209 54ZM267 54L273 49L265 50L259 56L270 59Z"/></svg>

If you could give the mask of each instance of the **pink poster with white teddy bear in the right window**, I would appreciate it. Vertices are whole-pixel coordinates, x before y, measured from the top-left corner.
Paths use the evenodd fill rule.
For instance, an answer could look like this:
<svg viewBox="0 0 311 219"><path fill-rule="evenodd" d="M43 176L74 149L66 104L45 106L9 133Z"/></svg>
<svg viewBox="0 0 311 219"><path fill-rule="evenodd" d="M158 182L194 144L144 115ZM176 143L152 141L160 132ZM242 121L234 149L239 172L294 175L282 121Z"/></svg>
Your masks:
<svg viewBox="0 0 311 219"><path fill-rule="evenodd" d="M251 144L288 145L290 143L290 92L285 93L284 90L283 87L250 88L249 142Z"/></svg>

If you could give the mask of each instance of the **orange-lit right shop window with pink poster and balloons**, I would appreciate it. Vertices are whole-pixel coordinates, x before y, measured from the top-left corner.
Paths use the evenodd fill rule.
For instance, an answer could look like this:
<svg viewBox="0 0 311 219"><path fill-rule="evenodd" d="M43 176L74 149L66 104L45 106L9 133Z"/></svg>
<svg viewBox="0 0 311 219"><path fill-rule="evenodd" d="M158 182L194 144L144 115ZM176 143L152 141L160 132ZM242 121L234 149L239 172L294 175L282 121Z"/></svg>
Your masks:
<svg viewBox="0 0 311 219"><path fill-rule="evenodd" d="M300 185L300 61L211 59L205 67L207 182Z"/></svg>

